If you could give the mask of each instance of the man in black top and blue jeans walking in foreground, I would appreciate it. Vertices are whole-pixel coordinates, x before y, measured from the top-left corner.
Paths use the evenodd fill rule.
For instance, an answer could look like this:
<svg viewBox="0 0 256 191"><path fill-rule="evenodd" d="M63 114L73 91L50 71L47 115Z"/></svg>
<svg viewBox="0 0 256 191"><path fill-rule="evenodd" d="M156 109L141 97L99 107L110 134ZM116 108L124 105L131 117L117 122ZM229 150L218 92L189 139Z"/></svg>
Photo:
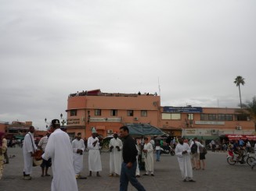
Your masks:
<svg viewBox="0 0 256 191"><path fill-rule="evenodd" d="M131 182L139 191L146 191L144 187L139 183L135 177L137 161L136 156L138 155L138 150L135 146L135 140L129 135L129 129L127 126L121 126L120 136L124 138L123 144L123 163L121 166L120 175L120 191L127 191L128 182Z"/></svg>

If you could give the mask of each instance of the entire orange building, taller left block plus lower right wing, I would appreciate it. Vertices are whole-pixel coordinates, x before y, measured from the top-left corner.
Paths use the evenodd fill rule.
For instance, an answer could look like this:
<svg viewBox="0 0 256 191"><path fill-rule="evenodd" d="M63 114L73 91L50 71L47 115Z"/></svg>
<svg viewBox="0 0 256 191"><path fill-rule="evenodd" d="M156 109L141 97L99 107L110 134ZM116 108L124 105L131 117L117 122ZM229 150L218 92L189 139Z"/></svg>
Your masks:
<svg viewBox="0 0 256 191"><path fill-rule="evenodd" d="M67 101L67 133L91 136L96 127L105 137L129 123L149 123L170 136L198 136L203 140L227 134L251 135L254 122L237 108L160 106L157 94L110 94L91 90L70 94Z"/></svg>

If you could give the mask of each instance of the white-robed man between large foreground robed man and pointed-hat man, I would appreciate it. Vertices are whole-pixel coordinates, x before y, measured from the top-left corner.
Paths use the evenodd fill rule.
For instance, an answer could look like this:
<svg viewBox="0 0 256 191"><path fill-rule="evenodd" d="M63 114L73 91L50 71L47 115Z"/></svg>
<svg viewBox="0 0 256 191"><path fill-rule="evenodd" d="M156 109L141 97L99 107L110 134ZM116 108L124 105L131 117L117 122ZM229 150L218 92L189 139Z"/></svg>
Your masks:
<svg viewBox="0 0 256 191"><path fill-rule="evenodd" d="M84 151L85 151L85 141L81 139L81 133L78 133L78 136L75 140L72 141L73 148L73 159L74 159L74 172L76 174L76 179L86 179L81 176L81 171L84 167Z"/></svg>

